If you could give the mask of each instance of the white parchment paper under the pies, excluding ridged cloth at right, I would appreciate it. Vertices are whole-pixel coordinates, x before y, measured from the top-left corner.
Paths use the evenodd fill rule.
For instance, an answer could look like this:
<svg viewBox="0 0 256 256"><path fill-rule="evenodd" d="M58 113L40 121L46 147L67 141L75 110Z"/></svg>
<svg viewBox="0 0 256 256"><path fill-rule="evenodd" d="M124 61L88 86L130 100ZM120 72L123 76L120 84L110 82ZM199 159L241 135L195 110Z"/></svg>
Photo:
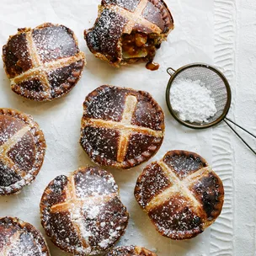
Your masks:
<svg viewBox="0 0 256 256"><path fill-rule="evenodd" d="M92 164L79 146L83 100L94 88L113 84L147 90L162 106L166 115L166 136L163 146L150 161L160 159L168 150L197 152L211 163L212 131L192 131L173 120L165 104L168 83L167 67L179 68L190 62L214 62L214 1L167 0L173 13L175 29L157 53L161 65L150 72L143 64L115 69L99 61L88 51L83 29L93 26L99 1L93 0L2 0L0 8L0 44L18 28L35 27L45 22L65 24L78 37L80 49L86 53L88 65L77 86L64 99L51 103L35 103L13 93L2 64L0 65L0 107L19 109L33 115L45 132L47 151L45 163L35 183L19 195L0 198L0 216L17 216L29 221L44 233L40 225L39 204L45 186L62 173L69 173ZM2 61L1 61L2 62ZM129 227L119 244L140 245L156 251L159 256L210 255L211 228L187 242L174 242L161 237L141 211L133 196L136 179L147 163L130 171L109 169L120 187L120 195L131 215ZM66 255L47 240L54 256Z"/></svg>

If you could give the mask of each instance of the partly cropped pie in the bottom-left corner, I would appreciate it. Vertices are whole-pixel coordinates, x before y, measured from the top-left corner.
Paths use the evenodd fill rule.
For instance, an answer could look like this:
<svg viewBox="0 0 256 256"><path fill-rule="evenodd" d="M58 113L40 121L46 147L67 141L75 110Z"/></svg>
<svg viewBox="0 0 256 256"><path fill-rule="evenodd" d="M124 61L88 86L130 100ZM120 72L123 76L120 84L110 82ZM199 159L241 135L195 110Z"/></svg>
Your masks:
<svg viewBox="0 0 256 256"><path fill-rule="evenodd" d="M50 256L42 234L31 224L13 217L0 219L0 255Z"/></svg>

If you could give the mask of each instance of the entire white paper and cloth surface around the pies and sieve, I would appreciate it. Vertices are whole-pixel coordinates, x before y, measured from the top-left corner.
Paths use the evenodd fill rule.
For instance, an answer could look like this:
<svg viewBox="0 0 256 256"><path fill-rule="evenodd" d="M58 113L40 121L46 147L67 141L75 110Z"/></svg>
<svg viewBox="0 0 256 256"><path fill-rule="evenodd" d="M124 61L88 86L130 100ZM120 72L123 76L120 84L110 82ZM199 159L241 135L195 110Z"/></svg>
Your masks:
<svg viewBox="0 0 256 256"><path fill-rule="evenodd" d="M188 242L161 237L133 197L136 178L143 164L130 171L110 170L120 186L120 195L131 220L120 244L136 244L155 250L158 256L255 255L256 158L226 125L208 131L191 131L177 124L165 104L167 67L178 68L191 62L216 64L232 83L230 117L256 133L256 6L254 0L168 0L175 29L157 53L161 67L150 72L144 65L116 70L88 51L83 29L97 17L99 1L93 0L2 0L0 8L0 44L19 27L35 27L52 22L73 29L80 49L87 55L83 77L64 99L35 103L20 98L10 89L0 69L0 107L19 109L33 115L45 132L45 163L35 183L20 195L0 198L0 216L17 216L40 226L39 203L45 186L62 173L69 173L90 160L78 144L83 100L101 84L113 84L147 90L166 114L163 147L153 160L168 150L185 149L200 153L213 164L226 188L226 203L216 224ZM2 65L1 65L2 66ZM251 141L251 140L250 140ZM256 144L254 143L254 146ZM66 255L48 240L53 256Z"/></svg>

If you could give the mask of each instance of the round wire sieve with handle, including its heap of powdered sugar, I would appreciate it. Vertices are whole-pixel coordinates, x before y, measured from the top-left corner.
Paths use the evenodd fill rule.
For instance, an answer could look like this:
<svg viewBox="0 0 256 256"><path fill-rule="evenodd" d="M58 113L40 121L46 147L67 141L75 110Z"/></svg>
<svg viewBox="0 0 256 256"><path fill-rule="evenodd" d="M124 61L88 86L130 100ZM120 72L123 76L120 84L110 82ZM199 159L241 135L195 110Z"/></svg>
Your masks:
<svg viewBox="0 0 256 256"><path fill-rule="evenodd" d="M216 67L195 63L177 71L169 67L167 72L171 78L166 90L166 102L175 120L193 129L209 128L223 120L256 155L232 125L254 138L256 136L227 118L232 100L231 88L227 78Z"/></svg>

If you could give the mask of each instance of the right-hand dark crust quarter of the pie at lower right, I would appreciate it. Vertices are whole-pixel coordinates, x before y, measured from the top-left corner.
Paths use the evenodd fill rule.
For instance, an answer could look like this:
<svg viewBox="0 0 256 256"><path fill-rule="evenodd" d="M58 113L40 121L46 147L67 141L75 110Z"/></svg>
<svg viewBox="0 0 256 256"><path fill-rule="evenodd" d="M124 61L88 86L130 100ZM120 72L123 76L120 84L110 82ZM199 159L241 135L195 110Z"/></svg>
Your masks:
<svg viewBox="0 0 256 256"><path fill-rule="evenodd" d="M195 198L203 205L208 220L214 220L219 216L222 204L224 189L221 180L215 173L209 173L201 177L190 187Z"/></svg>

